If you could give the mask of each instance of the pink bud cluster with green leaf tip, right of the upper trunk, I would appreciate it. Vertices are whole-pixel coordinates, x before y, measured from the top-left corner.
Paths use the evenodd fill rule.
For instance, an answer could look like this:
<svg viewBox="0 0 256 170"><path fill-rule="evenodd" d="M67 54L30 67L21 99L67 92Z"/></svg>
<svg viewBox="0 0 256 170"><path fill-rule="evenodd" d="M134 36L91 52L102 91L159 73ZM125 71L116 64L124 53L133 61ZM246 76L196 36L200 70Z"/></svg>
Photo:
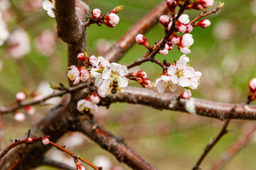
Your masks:
<svg viewBox="0 0 256 170"><path fill-rule="evenodd" d="M123 8L124 6L116 6L105 16L102 16L100 9L95 8L92 10L92 17L90 18L89 22L97 23L98 26L101 26L103 23L106 26L113 28L117 25L117 23L119 23L119 16L117 16L117 13L119 13L119 11L121 11Z"/></svg>

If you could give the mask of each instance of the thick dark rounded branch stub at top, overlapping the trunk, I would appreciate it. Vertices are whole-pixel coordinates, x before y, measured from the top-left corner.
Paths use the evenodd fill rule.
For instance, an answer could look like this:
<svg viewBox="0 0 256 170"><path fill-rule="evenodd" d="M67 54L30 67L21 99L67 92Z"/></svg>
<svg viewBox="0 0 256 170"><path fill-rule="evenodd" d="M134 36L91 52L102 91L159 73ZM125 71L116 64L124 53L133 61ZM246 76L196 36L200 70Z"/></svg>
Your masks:
<svg viewBox="0 0 256 170"><path fill-rule="evenodd" d="M59 38L68 44L78 42L84 32L82 22L89 16L89 6L80 0L56 0L55 3Z"/></svg>

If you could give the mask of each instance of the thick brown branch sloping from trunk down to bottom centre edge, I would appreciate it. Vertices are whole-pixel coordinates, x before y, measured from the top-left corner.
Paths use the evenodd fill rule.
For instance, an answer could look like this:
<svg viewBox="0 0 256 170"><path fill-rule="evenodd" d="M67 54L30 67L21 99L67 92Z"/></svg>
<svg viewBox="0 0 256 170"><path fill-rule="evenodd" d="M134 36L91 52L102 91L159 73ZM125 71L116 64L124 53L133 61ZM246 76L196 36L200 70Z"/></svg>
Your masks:
<svg viewBox="0 0 256 170"><path fill-rule="evenodd" d="M156 167L143 159L137 152L130 148L122 139L108 132L93 120L83 120L76 130L83 132L99 144L103 149L112 153L119 162L124 162L132 169L154 170ZM103 167L104 168L104 167Z"/></svg>

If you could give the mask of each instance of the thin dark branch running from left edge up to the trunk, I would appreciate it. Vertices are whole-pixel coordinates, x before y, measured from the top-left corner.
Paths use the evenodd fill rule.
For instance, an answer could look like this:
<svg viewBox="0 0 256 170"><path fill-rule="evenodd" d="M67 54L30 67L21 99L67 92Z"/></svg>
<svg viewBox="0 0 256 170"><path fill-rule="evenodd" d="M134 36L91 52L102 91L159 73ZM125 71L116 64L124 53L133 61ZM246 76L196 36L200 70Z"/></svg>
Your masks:
<svg viewBox="0 0 256 170"><path fill-rule="evenodd" d="M43 102L47 101L49 98L53 98L53 97L57 97L57 96L63 96L63 95L68 94L68 93L73 93L74 91L79 91L81 89L85 89L85 87L87 87L88 84L79 84L78 86L65 88L65 90L63 89L63 91L59 91L57 93L50 94L49 96L46 96L46 97L42 98L41 100L21 101L21 102L18 102L18 103L16 102L16 103L11 104L10 106L1 107L0 108L0 113L1 114L11 113L11 112L14 112L14 111L16 111L20 108L26 107L26 106L32 106L32 105L36 105L36 104L43 104Z"/></svg>

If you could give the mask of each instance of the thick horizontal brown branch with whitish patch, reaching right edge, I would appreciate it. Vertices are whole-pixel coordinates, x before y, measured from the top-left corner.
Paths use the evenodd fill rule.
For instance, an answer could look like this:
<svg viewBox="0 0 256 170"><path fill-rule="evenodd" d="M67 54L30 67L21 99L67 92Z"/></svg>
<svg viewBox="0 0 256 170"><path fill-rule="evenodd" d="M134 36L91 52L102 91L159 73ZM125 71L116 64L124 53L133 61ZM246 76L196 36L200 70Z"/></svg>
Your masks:
<svg viewBox="0 0 256 170"><path fill-rule="evenodd" d="M256 106L245 103L218 103L199 98L183 99L177 94L159 94L156 91L131 86L122 89L122 94L122 98L102 98L101 104L109 105L113 102L143 104L157 109L183 111L220 120L228 119L230 110L236 106L233 119L256 120Z"/></svg>

